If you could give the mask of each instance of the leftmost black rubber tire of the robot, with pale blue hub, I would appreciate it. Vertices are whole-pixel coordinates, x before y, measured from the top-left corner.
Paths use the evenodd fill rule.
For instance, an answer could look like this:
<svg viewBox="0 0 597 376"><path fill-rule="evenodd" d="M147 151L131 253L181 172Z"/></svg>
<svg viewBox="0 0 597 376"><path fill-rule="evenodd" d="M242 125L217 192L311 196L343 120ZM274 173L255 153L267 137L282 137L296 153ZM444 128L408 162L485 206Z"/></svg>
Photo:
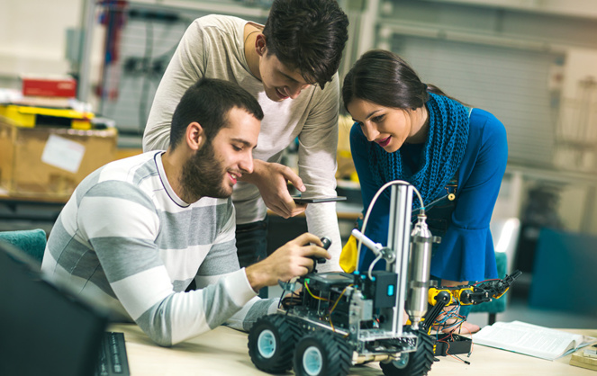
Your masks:
<svg viewBox="0 0 597 376"><path fill-rule="evenodd" d="M259 336L262 334L271 340L273 353L265 354L260 350ZM293 365L294 346L299 336L299 328L285 315L273 314L259 318L249 330L251 361L264 372L283 373L290 370Z"/></svg>

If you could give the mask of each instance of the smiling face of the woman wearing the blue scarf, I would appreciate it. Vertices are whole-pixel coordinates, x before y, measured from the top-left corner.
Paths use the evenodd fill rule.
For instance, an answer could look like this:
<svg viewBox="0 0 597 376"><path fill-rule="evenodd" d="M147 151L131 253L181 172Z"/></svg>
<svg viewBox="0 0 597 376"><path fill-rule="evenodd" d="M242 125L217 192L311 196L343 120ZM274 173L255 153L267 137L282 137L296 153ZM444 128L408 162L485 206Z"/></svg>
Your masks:
<svg viewBox="0 0 597 376"><path fill-rule="evenodd" d="M366 139L376 142L388 153L401 148L407 140L411 143L425 141L423 126L427 112L424 107L407 112L355 98L347 109Z"/></svg>

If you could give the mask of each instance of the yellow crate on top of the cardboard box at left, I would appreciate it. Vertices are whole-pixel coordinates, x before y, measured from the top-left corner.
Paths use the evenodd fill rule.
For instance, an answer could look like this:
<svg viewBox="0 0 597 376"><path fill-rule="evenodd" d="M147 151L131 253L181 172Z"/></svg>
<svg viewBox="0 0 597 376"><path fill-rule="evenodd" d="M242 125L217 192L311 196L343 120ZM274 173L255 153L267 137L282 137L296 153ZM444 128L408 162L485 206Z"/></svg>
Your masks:
<svg viewBox="0 0 597 376"><path fill-rule="evenodd" d="M14 121L14 125L18 127L33 128L37 125L41 125L38 116L44 116L53 118L55 121L63 122L65 125L68 125L75 130L91 130L91 120L95 116L93 112L20 106L16 104L0 105L0 115Z"/></svg>

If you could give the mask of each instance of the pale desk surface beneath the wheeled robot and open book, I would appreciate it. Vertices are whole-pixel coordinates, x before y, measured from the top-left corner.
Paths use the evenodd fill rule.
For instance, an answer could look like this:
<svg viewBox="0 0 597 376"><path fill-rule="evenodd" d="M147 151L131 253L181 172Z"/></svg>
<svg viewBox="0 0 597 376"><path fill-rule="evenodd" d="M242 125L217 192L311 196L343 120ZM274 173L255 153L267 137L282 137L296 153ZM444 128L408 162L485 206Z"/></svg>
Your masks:
<svg viewBox="0 0 597 376"><path fill-rule="evenodd" d="M159 347L151 342L140 327L117 324L109 327L123 332L132 375L267 375L251 363L247 349L247 334L229 327L195 337L172 348ZM597 330L564 329L588 336ZM473 336L475 341L475 336ZM570 356L554 362L510 353L482 345L474 345L473 354L466 358L469 365L451 357L439 357L430 375L592 375L597 373L568 364ZM383 375L377 363L352 367L349 375Z"/></svg>

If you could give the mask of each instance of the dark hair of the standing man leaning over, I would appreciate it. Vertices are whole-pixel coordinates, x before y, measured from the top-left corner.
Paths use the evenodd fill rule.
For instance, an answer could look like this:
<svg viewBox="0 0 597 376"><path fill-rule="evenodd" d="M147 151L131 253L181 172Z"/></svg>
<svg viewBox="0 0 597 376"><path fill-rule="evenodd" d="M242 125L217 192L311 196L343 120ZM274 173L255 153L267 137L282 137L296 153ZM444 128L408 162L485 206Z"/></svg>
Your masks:
<svg viewBox="0 0 597 376"><path fill-rule="evenodd" d="M338 71L348 17L336 0L275 0L263 35L267 53L323 88Z"/></svg>

